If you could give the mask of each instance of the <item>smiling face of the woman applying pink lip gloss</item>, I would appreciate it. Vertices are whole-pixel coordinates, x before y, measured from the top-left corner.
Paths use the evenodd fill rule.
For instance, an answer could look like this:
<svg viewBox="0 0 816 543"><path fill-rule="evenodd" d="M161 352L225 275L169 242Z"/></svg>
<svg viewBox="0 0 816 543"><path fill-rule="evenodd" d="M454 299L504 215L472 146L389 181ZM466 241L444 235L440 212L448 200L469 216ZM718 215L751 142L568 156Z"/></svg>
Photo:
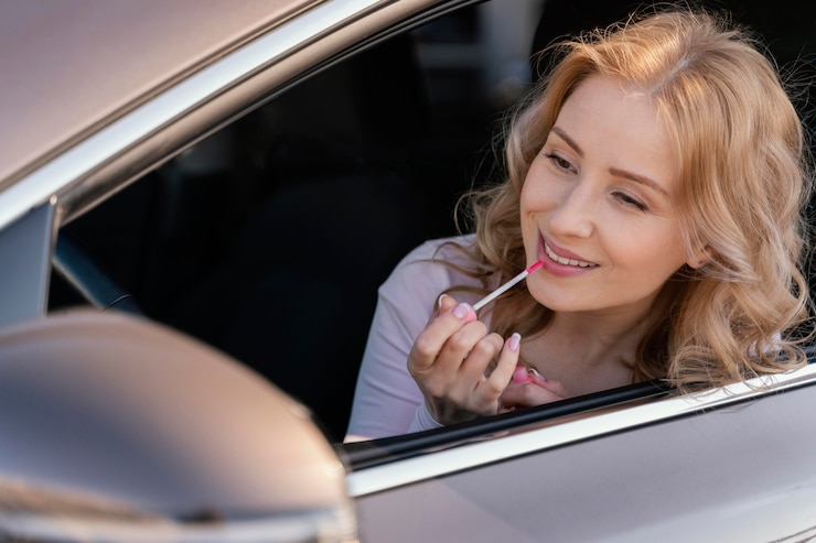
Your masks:
<svg viewBox="0 0 816 543"><path fill-rule="evenodd" d="M645 95L593 76L565 102L522 189L533 296L557 312L646 314L685 262L679 165Z"/></svg>

